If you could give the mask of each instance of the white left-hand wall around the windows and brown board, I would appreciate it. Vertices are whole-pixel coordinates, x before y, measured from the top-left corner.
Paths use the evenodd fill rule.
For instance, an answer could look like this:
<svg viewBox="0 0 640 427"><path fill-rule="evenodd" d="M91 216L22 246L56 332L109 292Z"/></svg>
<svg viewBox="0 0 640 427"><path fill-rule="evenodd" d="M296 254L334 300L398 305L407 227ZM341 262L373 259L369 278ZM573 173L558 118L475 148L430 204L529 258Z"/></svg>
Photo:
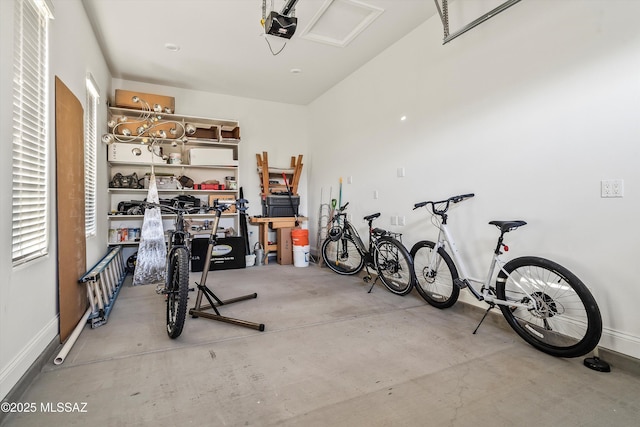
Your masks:
<svg viewBox="0 0 640 427"><path fill-rule="evenodd" d="M45 347L58 335L58 285L55 205L55 86L60 79L85 104L85 76L90 71L102 91L104 100L111 76L79 0L53 1L55 19L50 27L50 134L49 182L50 239L49 255L24 266L12 267L11 262L11 144L12 140L12 76L13 76L13 1L0 1L2 37L0 88L0 135L4 155L0 156L3 178L0 186L0 398L16 384ZM106 117L103 104L98 112ZM106 125L104 125L106 128ZM102 150L104 151L104 150ZM101 152L99 163L104 163ZM100 170L104 171L101 166ZM100 182L98 183L100 185ZM104 183L103 183L104 185ZM104 201L98 212L105 212ZM106 225L99 224L98 235L106 236ZM87 267L91 267L106 251L106 239L87 240Z"/></svg>

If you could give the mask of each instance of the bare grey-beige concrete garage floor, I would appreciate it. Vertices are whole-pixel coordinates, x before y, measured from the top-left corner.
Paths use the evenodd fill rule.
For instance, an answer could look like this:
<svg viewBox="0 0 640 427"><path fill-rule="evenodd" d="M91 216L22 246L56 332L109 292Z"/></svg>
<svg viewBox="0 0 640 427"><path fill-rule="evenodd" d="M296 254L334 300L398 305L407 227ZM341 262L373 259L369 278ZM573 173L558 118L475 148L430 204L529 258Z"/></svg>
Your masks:
<svg viewBox="0 0 640 427"><path fill-rule="evenodd" d="M192 273L192 283L199 275ZM427 305L311 265L209 274L221 308L264 332L187 318L176 340L150 286L124 286L109 322L46 365L2 426L632 426L640 376L543 354L498 317ZM195 300L191 296L190 307ZM496 320L497 319L497 320ZM78 404L82 413L42 411ZM86 403L86 406L84 404ZM73 406L72 406L73 408ZM45 408L46 409L46 408Z"/></svg>

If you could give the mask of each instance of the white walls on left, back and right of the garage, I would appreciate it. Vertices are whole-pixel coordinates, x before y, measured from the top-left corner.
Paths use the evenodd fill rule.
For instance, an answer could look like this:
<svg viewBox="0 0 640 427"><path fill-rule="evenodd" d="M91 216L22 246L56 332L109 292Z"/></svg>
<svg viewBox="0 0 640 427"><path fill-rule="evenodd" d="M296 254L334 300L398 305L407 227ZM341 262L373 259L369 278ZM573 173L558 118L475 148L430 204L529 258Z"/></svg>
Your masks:
<svg viewBox="0 0 640 427"><path fill-rule="evenodd" d="M251 215L261 212L255 154L262 151L274 165L304 155L301 213L311 217L312 245L321 190L324 203L330 188L336 197L340 176L353 177L343 201L351 202L354 218L380 211L379 224L388 226L391 215L406 216L407 226L389 228L405 233L409 247L434 236L425 213L411 210L415 202L473 191L477 197L451 219L473 267L486 267L494 245L489 220L526 219L529 225L508 236L510 253L547 256L574 270L602 309L602 345L640 357L640 315L633 307L640 297L634 280L640 273L638 2L521 2L446 46L436 17L309 107L111 82L80 1L54 0L54 6L52 85L60 76L84 104L84 76L91 71L101 101L114 88L162 93L176 97L180 114L240 120L240 182ZM0 92L10 94L13 2L0 1L0 20ZM5 141L11 111L11 97L1 97ZM99 115L106 117L104 102ZM107 187L105 151L98 151L98 188ZM0 156L1 206L10 205L10 159ZM396 176L399 167L406 177ZM53 167L50 174L54 182ZM599 197L607 178L625 180L624 198ZM98 213L106 212L106 192L98 203ZM53 195L51 206L55 230ZM48 257L14 269L10 215L0 210L3 397L58 333L55 233ZM98 236L87 241L88 267L106 249L108 225L98 224Z"/></svg>

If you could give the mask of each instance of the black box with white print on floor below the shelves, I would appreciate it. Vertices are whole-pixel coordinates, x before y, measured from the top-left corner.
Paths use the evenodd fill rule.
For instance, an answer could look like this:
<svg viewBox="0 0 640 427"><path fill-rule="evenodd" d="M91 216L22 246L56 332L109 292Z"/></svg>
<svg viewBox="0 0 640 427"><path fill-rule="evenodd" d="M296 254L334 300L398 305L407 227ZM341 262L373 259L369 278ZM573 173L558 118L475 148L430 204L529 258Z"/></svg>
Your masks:
<svg viewBox="0 0 640 427"><path fill-rule="evenodd" d="M191 271L202 271L204 268L207 246L209 246L208 238L191 240ZM218 238L218 242L213 249L209 271L246 267L243 237Z"/></svg>

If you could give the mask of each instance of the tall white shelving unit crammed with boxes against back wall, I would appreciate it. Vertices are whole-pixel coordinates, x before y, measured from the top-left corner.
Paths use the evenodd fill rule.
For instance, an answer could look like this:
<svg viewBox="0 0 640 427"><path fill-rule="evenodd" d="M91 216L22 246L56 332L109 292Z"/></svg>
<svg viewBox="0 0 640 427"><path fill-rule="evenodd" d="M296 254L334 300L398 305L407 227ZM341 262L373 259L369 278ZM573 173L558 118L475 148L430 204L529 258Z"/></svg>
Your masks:
<svg viewBox="0 0 640 427"><path fill-rule="evenodd" d="M189 195L200 199L201 206L209 205L213 198L236 199L239 188L238 149L240 142L240 126L235 120L212 119L179 114L151 113L152 119L145 117L143 110L109 107L108 122L111 141L108 150L108 171L111 182L117 173L129 176L133 173L142 185L145 174L154 171L156 178L160 176L187 176L195 184L218 181L225 185L224 189L159 188L161 199L171 199L179 195ZM183 139L176 138L171 132L175 122L183 127L189 126L192 132ZM114 128L114 123L118 125ZM163 129L165 138L152 138L148 135L149 126L144 131L143 125L149 124L154 129ZM115 131L114 131L115 129ZM126 131L124 129L127 129ZM125 133L129 133L127 135ZM171 160L170 160L171 159ZM180 164L168 163L168 161ZM233 177L233 180L227 180ZM177 181L177 180L176 180ZM233 188L227 188L232 183ZM143 215L119 214L118 204L131 200L144 200L148 188L109 188L110 212L109 237L110 245L137 245ZM173 228L174 215L163 215L165 230ZM212 220L214 213L192 214L188 219L202 225ZM221 228L239 229L239 216L235 211L225 212L220 222ZM115 232L119 230L120 232ZM126 237L123 230L127 230ZM133 230L132 233L129 230Z"/></svg>

